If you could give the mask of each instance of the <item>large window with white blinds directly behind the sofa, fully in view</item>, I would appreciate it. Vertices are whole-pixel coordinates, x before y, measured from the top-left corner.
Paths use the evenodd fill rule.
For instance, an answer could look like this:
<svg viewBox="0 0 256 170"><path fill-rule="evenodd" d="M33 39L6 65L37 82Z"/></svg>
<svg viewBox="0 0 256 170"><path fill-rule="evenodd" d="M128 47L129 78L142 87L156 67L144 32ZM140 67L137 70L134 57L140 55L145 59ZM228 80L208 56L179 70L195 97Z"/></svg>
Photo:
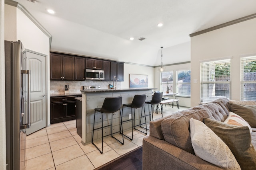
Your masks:
<svg viewBox="0 0 256 170"><path fill-rule="evenodd" d="M200 74L202 103L230 98L230 59L201 63Z"/></svg>

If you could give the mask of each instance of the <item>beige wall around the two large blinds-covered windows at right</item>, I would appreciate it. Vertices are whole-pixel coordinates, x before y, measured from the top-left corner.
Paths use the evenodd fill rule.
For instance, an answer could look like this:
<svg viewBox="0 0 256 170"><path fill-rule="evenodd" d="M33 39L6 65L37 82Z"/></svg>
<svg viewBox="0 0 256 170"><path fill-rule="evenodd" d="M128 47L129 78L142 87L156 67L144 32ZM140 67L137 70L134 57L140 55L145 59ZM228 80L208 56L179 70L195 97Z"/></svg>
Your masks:
<svg viewBox="0 0 256 170"><path fill-rule="evenodd" d="M200 61L231 59L231 98L240 100L240 56L256 53L256 18L191 38L191 107L200 102Z"/></svg>

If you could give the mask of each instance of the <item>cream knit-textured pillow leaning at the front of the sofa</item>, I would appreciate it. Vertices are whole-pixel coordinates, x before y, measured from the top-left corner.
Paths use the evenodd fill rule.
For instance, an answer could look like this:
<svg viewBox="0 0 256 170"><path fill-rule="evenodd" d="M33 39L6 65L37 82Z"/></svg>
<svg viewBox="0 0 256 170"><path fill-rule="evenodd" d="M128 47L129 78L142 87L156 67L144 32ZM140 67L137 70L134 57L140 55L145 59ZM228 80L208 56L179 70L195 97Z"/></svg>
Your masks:
<svg viewBox="0 0 256 170"><path fill-rule="evenodd" d="M190 119L190 137L196 156L226 170L240 170L228 146L203 122Z"/></svg>

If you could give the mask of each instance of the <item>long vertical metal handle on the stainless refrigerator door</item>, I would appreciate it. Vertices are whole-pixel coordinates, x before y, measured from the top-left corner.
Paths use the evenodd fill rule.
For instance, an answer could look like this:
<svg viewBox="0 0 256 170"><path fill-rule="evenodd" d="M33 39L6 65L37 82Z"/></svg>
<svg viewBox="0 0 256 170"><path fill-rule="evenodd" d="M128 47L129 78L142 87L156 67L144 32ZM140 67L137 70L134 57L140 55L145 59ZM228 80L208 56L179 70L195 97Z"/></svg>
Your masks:
<svg viewBox="0 0 256 170"><path fill-rule="evenodd" d="M21 70L21 74L28 74L28 97L27 97L28 123L20 125L20 129L26 129L26 128L30 128L30 70Z"/></svg>

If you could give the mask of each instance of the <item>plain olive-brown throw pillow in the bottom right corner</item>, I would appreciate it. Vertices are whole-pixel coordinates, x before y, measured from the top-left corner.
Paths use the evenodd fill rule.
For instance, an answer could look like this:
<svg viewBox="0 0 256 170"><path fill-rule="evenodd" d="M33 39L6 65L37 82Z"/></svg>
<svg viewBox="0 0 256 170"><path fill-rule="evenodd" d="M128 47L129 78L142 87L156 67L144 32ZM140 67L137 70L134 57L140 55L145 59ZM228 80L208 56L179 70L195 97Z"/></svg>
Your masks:
<svg viewBox="0 0 256 170"><path fill-rule="evenodd" d="M256 151L247 126L228 125L209 118L204 123L228 145L242 170L256 169Z"/></svg>

